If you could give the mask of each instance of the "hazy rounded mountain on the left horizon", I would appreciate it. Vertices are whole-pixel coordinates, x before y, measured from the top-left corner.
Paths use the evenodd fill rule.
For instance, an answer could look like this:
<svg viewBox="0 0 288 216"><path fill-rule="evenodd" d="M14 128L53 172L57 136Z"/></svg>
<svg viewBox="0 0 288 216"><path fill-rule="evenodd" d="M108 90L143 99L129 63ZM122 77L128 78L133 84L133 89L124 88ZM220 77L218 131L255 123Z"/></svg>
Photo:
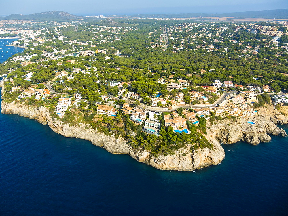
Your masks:
<svg viewBox="0 0 288 216"><path fill-rule="evenodd" d="M23 15L23 14L12 14L4 17L5 20L68 20L68 19L79 19L81 16L69 14L64 11L46 11L37 14Z"/></svg>

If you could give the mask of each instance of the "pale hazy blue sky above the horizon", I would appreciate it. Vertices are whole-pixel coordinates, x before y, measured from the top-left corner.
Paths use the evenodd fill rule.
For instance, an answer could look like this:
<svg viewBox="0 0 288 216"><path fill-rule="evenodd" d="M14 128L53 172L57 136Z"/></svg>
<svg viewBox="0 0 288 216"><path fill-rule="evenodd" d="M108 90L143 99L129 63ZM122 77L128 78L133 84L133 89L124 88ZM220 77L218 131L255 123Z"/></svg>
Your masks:
<svg viewBox="0 0 288 216"><path fill-rule="evenodd" d="M50 10L77 15L226 13L288 8L288 0L0 0L1 15Z"/></svg>

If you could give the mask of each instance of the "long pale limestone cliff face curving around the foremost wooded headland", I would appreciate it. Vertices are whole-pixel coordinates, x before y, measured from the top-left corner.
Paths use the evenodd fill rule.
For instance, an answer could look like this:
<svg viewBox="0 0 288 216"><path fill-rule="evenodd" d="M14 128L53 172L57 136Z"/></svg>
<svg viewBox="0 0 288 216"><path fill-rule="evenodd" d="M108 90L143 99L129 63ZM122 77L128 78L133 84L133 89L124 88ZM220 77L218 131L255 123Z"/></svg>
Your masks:
<svg viewBox="0 0 288 216"><path fill-rule="evenodd" d="M139 162L146 163L162 170L192 171L207 167L209 165L219 164L225 157L225 152L219 142L211 137L207 137L209 142L213 143L213 150L209 148L198 149L190 152L190 146L179 149L175 155L159 156L155 158L151 152L144 150L135 150L131 148L123 138L116 139L113 136L106 136L103 133L97 133L96 129L85 129L86 125L80 127L63 124L59 120L52 119L45 107L28 106L25 103L19 104L12 102L5 103L2 100L2 113L18 114L31 119L37 119L42 124L48 124L49 127L65 137L77 137L90 140L94 145L101 146L113 154L128 154ZM183 156L183 153L186 156Z"/></svg>

